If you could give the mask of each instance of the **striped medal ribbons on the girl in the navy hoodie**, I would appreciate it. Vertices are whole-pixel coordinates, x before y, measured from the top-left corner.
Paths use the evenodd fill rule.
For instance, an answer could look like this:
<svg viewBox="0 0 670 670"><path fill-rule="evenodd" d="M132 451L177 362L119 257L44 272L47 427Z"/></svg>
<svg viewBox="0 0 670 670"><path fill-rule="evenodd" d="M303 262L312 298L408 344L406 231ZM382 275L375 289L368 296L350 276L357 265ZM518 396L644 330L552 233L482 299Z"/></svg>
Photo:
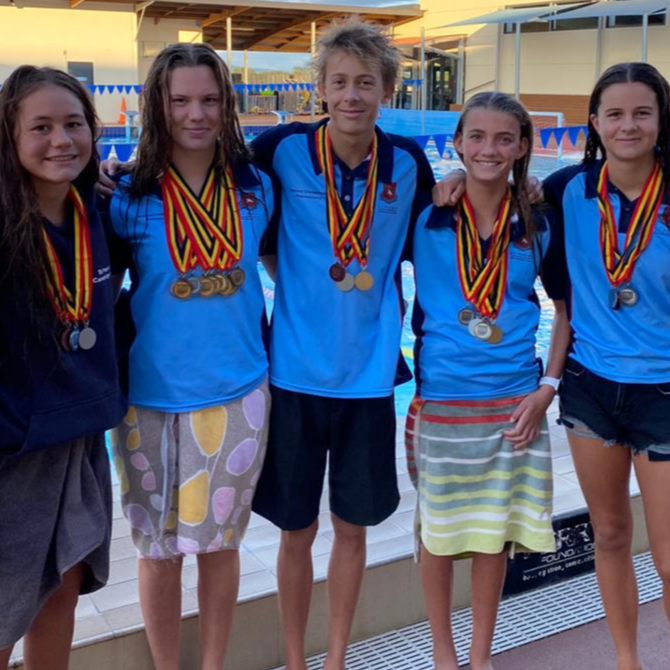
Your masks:
<svg viewBox="0 0 670 670"><path fill-rule="evenodd" d="M93 300L93 255L91 253L91 231L88 214L77 189L70 185L68 198L74 205L74 293L65 285L63 267L54 249L51 238L43 228L49 271L47 293L63 323L88 323L91 318Z"/></svg>

